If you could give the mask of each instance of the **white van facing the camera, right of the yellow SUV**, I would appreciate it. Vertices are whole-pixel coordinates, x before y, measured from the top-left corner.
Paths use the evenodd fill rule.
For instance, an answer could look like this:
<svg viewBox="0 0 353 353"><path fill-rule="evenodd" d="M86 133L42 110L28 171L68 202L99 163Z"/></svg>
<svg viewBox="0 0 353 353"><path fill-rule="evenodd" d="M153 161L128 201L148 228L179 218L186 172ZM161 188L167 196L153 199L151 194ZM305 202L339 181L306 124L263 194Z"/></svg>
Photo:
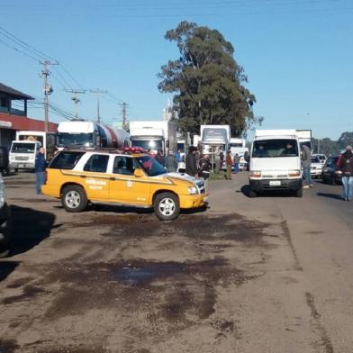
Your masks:
<svg viewBox="0 0 353 353"><path fill-rule="evenodd" d="M283 190L303 196L301 149L295 130L258 130L249 155L249 196Z"/></svg>

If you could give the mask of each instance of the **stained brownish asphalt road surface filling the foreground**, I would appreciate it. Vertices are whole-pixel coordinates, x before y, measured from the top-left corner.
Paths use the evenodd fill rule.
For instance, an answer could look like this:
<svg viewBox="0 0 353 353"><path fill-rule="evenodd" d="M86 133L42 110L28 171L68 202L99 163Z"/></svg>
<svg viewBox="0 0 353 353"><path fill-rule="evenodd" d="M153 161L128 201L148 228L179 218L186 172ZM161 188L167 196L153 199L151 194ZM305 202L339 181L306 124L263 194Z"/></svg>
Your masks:
<svg viewBox="0 0 353 353"><path fill-rule="evenodd" d="M6 177L12 256L0 261L0 352L351 352L353 203L210 185L210 208L66 213ZM133 212L132 212L133 211Z"/></svg>

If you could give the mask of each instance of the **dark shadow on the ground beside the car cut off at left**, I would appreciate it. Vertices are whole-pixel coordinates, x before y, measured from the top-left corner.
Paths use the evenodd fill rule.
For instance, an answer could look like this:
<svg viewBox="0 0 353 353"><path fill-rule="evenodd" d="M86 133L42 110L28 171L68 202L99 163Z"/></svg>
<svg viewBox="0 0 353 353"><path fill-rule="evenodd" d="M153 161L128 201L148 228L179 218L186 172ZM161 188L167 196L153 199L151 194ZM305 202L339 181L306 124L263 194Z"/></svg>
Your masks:
<svg viewBox="0 0 353 353"><path fill-rule="evenodd" d="M12 234L10 256L22 254L50 236L55 222L53 213L11 206Z"/></svg>

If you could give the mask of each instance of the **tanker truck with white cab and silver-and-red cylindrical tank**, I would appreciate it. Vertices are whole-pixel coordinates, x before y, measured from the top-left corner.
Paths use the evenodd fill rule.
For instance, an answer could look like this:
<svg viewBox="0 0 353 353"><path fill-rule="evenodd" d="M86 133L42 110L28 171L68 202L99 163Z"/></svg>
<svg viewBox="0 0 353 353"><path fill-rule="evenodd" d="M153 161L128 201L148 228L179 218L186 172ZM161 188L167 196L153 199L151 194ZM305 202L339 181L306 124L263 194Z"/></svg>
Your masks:
<svg viewBox="0 0 353 353"><path fill-rule="evenodd" d="M65 148L113 148L129 146L127 131L116 129L102 122L71 120L59 122L58 149Z"/></svg>

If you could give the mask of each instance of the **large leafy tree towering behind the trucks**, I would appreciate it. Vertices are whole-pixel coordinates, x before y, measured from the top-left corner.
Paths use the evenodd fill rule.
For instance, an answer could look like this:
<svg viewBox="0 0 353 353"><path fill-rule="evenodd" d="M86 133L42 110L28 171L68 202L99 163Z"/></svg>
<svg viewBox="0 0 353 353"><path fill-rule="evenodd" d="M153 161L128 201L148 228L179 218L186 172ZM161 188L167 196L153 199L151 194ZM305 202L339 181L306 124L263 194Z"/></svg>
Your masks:
<svg viewBox="0 0 353 353"><path fill-rule="evenodd" d="M158 73L158 89L174 93L180 127L198 133L201 124L230 124L234 135L255 122L255 96L244 83L244 69L233 58L234 49L222 33L196 23L182 22L167 31L180 58L169 60Z"/></svg>

